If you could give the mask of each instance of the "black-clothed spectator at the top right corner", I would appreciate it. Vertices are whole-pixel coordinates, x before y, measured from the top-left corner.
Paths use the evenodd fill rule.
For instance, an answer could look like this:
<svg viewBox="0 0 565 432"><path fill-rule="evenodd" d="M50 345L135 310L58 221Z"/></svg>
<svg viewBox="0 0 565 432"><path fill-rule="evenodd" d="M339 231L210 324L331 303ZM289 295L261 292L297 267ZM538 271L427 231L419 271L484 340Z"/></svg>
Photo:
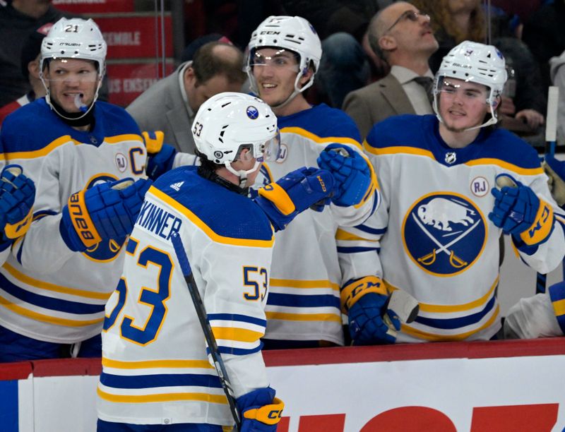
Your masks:
<svg viewBox="0 0 565 432"><path fill-rule="evenodd" d="M542 85L551 85L549 59L565 51L565 0L547 1L525 21L522 40L540 64Z"/></svg>

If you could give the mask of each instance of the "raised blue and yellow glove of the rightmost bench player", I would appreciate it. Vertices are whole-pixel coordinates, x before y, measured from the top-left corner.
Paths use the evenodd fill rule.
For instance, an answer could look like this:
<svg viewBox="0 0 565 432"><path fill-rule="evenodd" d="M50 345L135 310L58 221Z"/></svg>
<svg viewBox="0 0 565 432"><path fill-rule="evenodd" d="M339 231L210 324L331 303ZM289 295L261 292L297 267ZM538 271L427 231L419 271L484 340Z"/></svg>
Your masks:
<svg viewBox="0 0 565 432"><path fill-rule="evenodd" d="M489 213L492 223L511 234L518 242L537 246L549 238L553 231L554 216L551 206L528 186L508 174L496 176L501 189L492 188L494 208ZM509 186L502 186L503 184Z"/></svg>

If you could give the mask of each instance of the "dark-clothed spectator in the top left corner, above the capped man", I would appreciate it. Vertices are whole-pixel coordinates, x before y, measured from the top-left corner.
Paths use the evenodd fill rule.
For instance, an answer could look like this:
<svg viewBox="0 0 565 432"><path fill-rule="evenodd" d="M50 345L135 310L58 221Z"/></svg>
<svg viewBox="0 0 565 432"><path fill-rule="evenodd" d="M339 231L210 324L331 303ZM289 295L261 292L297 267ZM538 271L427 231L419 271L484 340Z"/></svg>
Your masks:
<svg viewBox="0 0 565 432"><path fill-rule="evenodd" d="M71 16L51 6L51 0L0 1L0 107L30 90L20 67L28 36L47 23Z"/></svg>

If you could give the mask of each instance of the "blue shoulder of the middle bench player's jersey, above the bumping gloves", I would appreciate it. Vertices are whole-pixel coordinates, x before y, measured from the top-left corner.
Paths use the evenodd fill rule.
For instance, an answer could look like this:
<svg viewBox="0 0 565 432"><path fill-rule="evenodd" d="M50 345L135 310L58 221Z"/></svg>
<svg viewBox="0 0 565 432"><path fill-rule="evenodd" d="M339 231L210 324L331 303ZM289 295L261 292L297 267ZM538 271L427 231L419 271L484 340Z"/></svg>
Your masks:
<svg viewBox="0 0 565 432"><path fill-rule="evenodd" d="M302 128L321 138L338 136L361 142L355 121L341 109L331 108L326 104L314 105L290 116L281 116L278 118L278 127Z"/></svg>

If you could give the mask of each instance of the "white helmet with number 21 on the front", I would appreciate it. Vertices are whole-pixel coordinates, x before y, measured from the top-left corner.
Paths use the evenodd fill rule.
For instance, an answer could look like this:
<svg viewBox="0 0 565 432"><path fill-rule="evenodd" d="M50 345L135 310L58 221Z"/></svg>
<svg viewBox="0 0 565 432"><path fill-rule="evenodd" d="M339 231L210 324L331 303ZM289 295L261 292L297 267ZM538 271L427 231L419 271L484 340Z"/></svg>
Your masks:
<svg viewBox="0 0 565 432"><path fill-rule="evenodd" d="M92 19L61 18L57 23L54 23L41 44L40 78L47 91L45 100L59 116L64 119L71 119L58 112L51 103L49 86L45 83L43 76L45 62L49 59L80 59L94 61L97 65L97 88L93 102L90 104L90 107L86 107L85 105L81 107L81 103L78 100L75 102L78 104L77 107L80 107L83 112L83 115L78 117L80 119L90 112L90 109L92 109L94 102L96 102L98 98L102 78L106 71L106 52L107 45L102 36L102 32L100 32L100 28L98 28Z"/></svg>

